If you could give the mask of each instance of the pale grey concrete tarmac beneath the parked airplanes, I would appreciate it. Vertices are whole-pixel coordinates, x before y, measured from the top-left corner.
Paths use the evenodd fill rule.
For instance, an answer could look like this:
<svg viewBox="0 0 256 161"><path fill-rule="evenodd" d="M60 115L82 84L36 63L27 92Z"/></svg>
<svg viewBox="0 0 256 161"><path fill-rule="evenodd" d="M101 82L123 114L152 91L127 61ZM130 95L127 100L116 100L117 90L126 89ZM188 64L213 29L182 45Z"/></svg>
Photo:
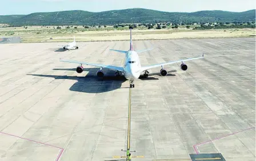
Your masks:
<svg viewBox="0 0 256 161"><path fill-rule="evenodd" d="M0 160L123 160L127 147L129 81L114 71L59 58L122 65L129 42L2 44ZM149 70L131 89L132 160L189 159L221 153L255 160L255 39L134 41L142 65L201 56Z"/></svg>

